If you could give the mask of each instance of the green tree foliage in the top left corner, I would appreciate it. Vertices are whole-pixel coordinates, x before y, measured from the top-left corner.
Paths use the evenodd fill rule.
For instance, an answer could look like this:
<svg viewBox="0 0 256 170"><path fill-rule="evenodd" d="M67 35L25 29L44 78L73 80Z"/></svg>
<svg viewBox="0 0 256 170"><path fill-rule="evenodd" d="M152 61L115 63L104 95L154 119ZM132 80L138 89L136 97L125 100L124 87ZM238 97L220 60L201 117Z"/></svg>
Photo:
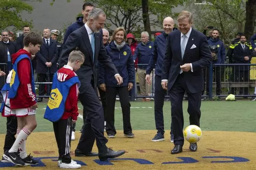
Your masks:
<svg viewBox="0 0 256 170"><path fill-rule="evenodd" d="M14 30L20 30L24 25L32 26L32 20L22 19L21 13L31 13L33 7L22 0L0 0L0 30L14 26Z"/></svg>

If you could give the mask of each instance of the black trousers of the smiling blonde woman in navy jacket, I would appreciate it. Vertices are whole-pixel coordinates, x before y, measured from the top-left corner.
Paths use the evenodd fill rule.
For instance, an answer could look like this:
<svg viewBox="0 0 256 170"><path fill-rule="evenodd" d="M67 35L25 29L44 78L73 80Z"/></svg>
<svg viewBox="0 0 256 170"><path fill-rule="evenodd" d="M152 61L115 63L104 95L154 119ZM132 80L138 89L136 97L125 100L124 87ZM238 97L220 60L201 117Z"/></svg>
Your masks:
<svg viewBox="0 0 256 170"><path fill-rule="evenodd" d="M116 93L119 94L119 99L122 107L123 113L123 129L124 134L132 132L131 129L131 120L130 120L130 107L129 102L129 91L128 86L123 87L106 87L106 132L107 134L116 134L116 129L114 126L114 112L115 112L115 103L116 103Z"/></svg>

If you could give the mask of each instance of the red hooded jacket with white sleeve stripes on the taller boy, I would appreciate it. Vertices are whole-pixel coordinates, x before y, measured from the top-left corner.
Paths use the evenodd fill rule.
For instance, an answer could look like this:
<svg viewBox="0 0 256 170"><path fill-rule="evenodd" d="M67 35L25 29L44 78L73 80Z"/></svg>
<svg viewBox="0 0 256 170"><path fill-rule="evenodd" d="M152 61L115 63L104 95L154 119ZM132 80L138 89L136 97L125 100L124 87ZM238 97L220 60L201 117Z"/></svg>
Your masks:
<svg viewBox="0 0 256 170"><path fill-rule="evenodd" d="M17 53L12 55L12 64L14 64L17 57L21 54L26 54L29 56L29 58L31 57L31 54L28 51L20 49ZM17 65L17 72L19 75L20 84L16 97L14 99L10 99L10 108L23 109L31 107L32 105L36 104L36 94L33 93L33 90L31 89L32 76L29 59L24 58L19 61Z"/></svg>

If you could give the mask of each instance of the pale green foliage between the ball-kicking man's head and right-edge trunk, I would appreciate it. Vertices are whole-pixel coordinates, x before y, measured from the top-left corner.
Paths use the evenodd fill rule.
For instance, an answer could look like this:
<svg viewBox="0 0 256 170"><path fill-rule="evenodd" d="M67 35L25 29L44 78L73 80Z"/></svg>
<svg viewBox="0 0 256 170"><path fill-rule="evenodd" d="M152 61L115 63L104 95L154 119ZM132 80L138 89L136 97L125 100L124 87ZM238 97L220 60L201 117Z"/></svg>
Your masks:
<svg viewBox="0 0 256 170"><path fill-rule="evenodd" d="M243 32L246 17L245 1L207 0L204 4L188 0L186 7L194 14L194 26L203 31L206 26L218 28L225 43L230 43L236 32Z"/></svg>

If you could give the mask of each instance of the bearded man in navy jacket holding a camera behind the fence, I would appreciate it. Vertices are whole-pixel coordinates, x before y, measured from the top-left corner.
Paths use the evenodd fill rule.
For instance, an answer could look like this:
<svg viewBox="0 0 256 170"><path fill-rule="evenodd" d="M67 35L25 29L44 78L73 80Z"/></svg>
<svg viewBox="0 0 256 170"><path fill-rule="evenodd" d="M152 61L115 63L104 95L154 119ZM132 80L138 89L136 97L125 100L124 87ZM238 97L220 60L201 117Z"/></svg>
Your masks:
<svg viewBox="0 0 256 170"><path fill-rule="evenodd" d="M225 62L225 47L223 42L219 39L220 31L213 29L213 34L208 40L209 47L211 50L211 56L213 58L213 64L224 64ZM206 95L209 95L209 69L206 71ZM213 73L215 74L216 80L216 95L221 94L221 67L214 66Z"/></svg>

